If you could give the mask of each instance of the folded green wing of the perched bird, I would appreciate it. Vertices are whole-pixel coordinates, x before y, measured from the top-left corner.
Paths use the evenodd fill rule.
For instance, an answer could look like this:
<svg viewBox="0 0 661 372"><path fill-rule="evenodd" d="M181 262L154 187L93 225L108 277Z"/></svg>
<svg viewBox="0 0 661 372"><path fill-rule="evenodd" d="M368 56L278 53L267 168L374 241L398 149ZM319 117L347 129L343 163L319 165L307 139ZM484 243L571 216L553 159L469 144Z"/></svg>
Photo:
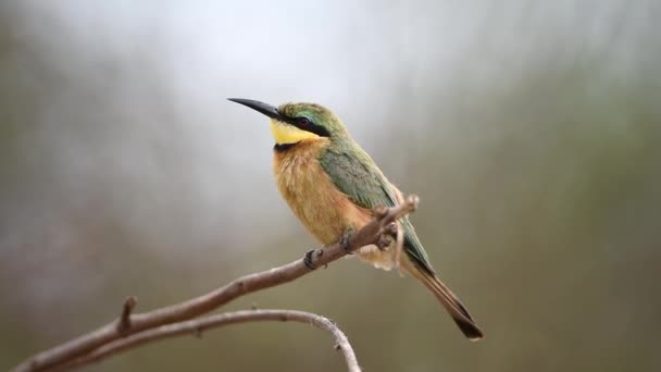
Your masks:
<svg viewBox="0 0 661 372"><path fill-rule="evenodd" d="M349 147L349 146L348 146ZM395 207L397 197L392 186L374 161L357 146L329 148L319 159L324 171L337 188L362 208ZM427 253L415 235L408 218L400 220L404 231L404 250L421 269L434 274Z"/></svg>

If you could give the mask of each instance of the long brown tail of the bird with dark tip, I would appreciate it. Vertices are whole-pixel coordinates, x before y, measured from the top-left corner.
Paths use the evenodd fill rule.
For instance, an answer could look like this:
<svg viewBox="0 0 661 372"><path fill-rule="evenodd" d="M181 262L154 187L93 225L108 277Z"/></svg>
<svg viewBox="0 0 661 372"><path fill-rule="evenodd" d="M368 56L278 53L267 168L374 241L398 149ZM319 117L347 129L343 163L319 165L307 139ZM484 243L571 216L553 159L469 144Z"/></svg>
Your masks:
<svg viewBox="0 0 661 372"><path fill-rule="evenodd" d="M403 261L403 260L402 260ZM440 301L440 305L448 311L450 317L461 332L470 339L470 340L478 340L484 337L484 334L475 324L475 321L469 313L469 310L461 303L459 298L454 296L452 290L448 288L436 275L433 273L427 273L423 270L420 270L417 266L411 268L414 264L409 262L406 265L404 270L409 272L413 277L421 281ZM407 270L408 269L408 270Z"/></svg>

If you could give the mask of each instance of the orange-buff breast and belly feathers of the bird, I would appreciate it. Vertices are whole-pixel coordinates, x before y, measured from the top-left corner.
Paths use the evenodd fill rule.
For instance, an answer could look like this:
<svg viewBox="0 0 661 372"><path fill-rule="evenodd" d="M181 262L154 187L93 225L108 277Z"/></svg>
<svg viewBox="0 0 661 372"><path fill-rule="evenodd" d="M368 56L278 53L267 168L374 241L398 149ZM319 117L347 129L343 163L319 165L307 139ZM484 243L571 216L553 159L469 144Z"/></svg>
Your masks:
<svg viewBox="0 0 661 372"><path fill-rule="evenodd" d="M323 244L332 244L347 228L367 223L371 212L353 204L324 172L317 160L324 146L325 141L302 141L276 151L274 173L280 194L298 219Z"/></svg>

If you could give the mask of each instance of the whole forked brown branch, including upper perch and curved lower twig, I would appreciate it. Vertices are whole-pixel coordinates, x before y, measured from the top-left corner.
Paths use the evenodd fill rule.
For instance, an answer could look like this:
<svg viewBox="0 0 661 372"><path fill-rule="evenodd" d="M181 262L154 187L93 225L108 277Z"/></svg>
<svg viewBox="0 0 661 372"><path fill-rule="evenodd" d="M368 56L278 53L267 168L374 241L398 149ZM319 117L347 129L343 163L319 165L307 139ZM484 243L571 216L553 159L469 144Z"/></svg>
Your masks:
<svg viewBox="0 0 661 372"><path fill-rule="evenodd" d="M305 257L282 266L238 277L208 294L179 303L134 313L137 298L128 297L116 320L41 351L16 365L13 371L68 370L166 337L200 334L208 328L252 321L296 321L329 332L335 337L336 348L345 357L348 371L360 372L356 355L346 335L324 317L296 310L261 309L226 312L205 318L198 317L240 296L295 281L311 273L314 268L326 266L361 247L382 246L384 237L392 236L392 225L397 224L402 216L415 211L417 203L417 197L412 195L397 207L377 207L374 209L374 220L352 233L347 239L342 239L344 241L313 249ZM397 235L400 235L399 232ZM398 238L398 240L400 239Z"/></svg>

